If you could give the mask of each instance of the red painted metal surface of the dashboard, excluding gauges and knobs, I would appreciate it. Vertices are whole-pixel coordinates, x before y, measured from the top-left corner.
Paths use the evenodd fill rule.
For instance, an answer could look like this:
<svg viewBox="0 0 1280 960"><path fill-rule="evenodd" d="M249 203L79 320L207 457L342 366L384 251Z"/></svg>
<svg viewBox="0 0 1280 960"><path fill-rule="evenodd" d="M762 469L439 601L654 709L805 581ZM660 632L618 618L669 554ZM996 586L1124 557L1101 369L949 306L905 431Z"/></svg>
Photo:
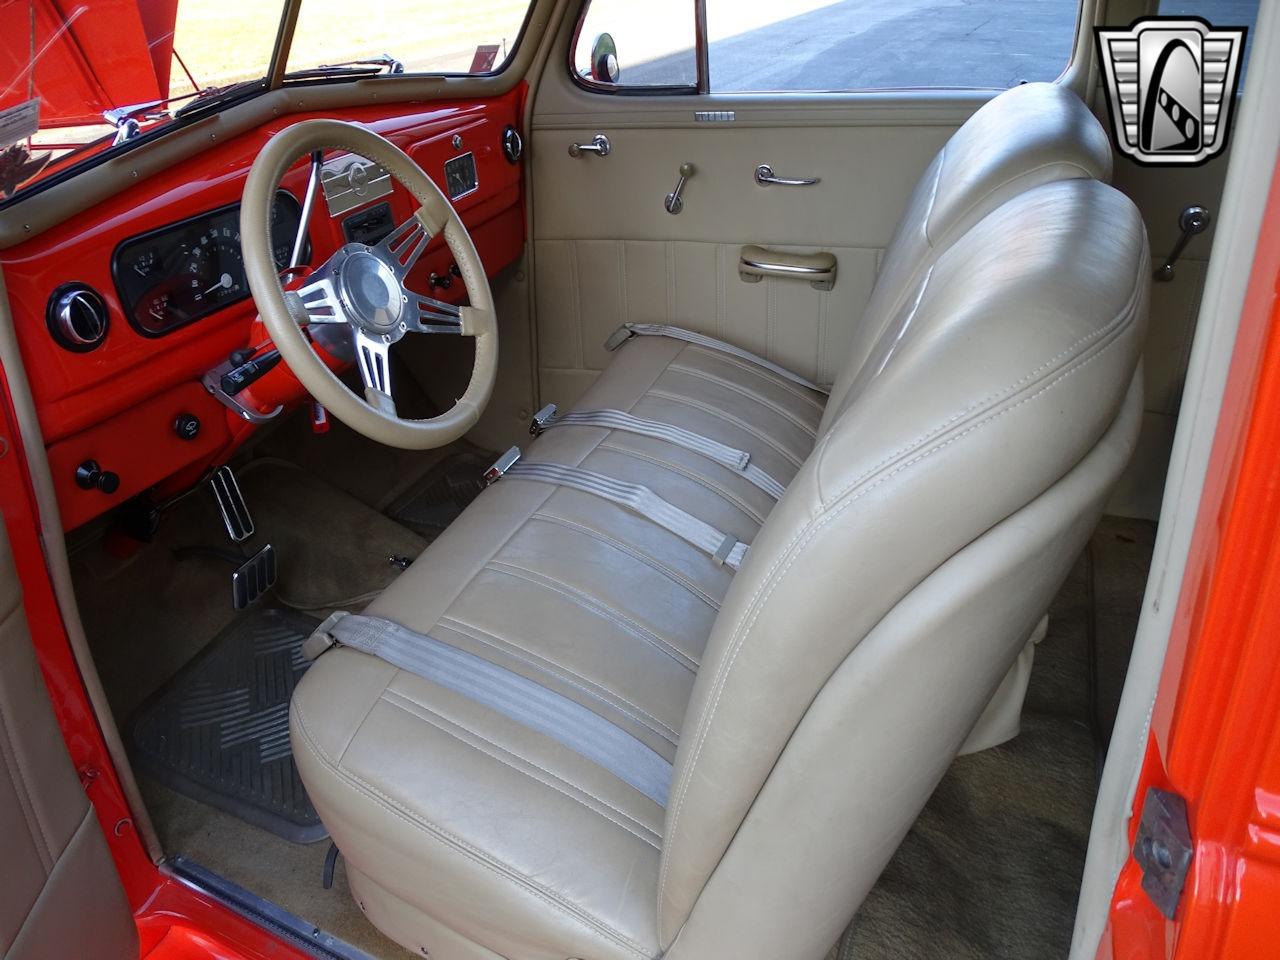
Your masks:
<svg viewBox="0 0 1280 960"><path fill-rule="evenodd" d="M340 119L362 123L392 140L442 188L445 161L474 154L477 188L460 197L454 206L493 275L515 261L524 246L521 168L509 163L502 148L507 127L520 128L522 97L522 88L517 88L479 102L361 108L344 111ZM178 471L225 457L250 431L246 421L204 392L200 378L225 361L233 349L251 346L251 338L260 335L252 300L228 305L163 337L147 337L124 316L111 262L124 241L238 202L248 168L266 140L310 116L280 118L253 133L211 146L198 160L141 182L92 211L0 255L68 529ZM301 200L306 179L307 168L300 163L282 187ZM389 197L351 212L387 201L394 223L412 212L411 198L399 186ZM342 220L348 215L330 218L324 197L317 197L308 220L312 265L323 262L344 242ZM428 287L430 273L445 274L451 265L448 248L435 238L408 285L442 300L461 300L461 284L434 292ZM96 291L110 317L104 342L90 352L60 346L46 324L51 293L70 282ZM280 365L241 398L252 398L251 403L256 401L259 408L269 410L303 399L303 390ZM200 408L202 429L197 442L180 440L173 430L169 408L178 399L192 408L188 412ZM74 467L84 460L95 460L102 468L119 474L119 489L115 493L81 489Z"/></svg>

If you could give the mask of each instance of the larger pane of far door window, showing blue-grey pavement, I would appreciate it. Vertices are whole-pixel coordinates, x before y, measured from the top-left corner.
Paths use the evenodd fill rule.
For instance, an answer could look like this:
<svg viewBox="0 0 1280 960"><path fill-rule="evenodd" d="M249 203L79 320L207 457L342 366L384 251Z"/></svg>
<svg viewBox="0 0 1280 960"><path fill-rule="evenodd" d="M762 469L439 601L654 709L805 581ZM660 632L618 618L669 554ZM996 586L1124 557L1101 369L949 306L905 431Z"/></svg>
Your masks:
<svg viewBox="0 0 1280 960"><path fill-rule="evenodd" d="M714 93L1056 79L1079 0L708 0Z"/></svg>

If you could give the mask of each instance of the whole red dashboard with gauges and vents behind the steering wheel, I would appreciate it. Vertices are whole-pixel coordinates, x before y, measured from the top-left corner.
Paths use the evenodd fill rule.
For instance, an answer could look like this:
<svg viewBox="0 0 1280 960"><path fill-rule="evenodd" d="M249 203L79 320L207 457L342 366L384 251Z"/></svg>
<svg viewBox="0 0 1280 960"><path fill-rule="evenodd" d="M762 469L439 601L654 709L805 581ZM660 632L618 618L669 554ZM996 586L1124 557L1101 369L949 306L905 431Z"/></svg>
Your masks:
<svg viewBox="0 0 1280 960"><path fill-rule="evenodd" d="M516 132L524 96L517 87L489 100L344 108L338 116L390 140L440 186L493 276L524 251ZM64 529L138 494L161 500L189 489L260 424L306 399L284 364L233 403L210 388L225 383L210 375L246 347L270 346L244 276L239 200L262 145L312 115L279 116L148 177L134 173L128 189L0 251ZM279 266L291 260L308 174L302 159L280 182ZM321 187L303 264L323 262L343 243L378 242L417 206L340 151L325 159ZM460 302L453 269L436 237L411 289ZM96 470L83 470L91 463Z"/></svg>

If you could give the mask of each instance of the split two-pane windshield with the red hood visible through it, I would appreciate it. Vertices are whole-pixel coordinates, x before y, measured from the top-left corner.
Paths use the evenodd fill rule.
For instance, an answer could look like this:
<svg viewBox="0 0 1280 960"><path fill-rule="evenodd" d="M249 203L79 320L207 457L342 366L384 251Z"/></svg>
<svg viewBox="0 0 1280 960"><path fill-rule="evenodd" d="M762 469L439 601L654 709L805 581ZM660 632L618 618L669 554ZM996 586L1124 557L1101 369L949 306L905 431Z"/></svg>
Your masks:
<svg viewBox="0 0 1280 960"><path fill-rule="evenodd" d="M498 70L527 9L302 0L285 79ZM283 0L0 0L0 202L184 110L265 90L283 12Z"/></svg>

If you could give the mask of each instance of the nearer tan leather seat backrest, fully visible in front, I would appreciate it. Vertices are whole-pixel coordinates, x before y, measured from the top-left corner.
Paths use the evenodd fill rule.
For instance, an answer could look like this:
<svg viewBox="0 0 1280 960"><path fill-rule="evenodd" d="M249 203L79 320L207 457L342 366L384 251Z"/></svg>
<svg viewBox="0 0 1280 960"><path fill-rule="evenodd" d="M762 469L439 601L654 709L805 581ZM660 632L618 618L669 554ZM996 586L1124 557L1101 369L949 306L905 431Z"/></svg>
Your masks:
<svg viewBox="0 0 1280 960"><path fill-rule="evenodd" d="M838 936L1128 460L1148 287L1137 209L1083 178L1019 193L909 285L708 641L667 805L669 957Z"/></svg>

